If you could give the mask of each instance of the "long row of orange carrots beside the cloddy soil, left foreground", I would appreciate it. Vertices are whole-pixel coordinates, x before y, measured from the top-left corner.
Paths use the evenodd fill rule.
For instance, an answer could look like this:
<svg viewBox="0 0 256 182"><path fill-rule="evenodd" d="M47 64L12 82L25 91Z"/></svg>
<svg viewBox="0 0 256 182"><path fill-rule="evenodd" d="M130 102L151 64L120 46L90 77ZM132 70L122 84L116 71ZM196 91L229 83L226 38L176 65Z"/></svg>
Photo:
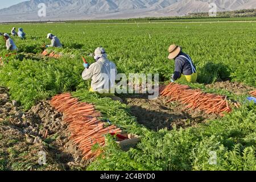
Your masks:
<svg viewBox="0 0 256 182"><path fill-rule="evenodd" d="M106 134L121 134L122 130L114 125L100 121L101 113L92 104L79 102L70 93L52 98L51 105L64 113L64 121L69 123L73 144L82 151L83 159L89 160L101 154L101 150L92 151L94 144L105 145Z"/></svg>

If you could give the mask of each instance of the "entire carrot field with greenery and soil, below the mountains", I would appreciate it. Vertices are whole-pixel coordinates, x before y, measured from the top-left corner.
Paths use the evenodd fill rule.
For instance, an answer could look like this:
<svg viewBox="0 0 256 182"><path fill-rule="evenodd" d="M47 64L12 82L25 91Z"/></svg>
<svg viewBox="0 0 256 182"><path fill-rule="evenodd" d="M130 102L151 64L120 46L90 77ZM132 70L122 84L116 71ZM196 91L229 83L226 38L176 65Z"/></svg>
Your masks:
<svg viewBox="0 0 256 182"><path fill-rule="evenodd" d="M256 105L247 101L256 90L255 22L1 24L0 32L12 27L22 27L27 36L13 38L16 54L0 41L0 170L256 170ZM42 55L49 32L64 47L47 50L60 57ZM225 100L225 108L219 107L224 113L190 109L179 102L181 93L155 101L120 94L121 104L90 93L90 82L82 80L81 56L93 63L90 54L102 46L119 73L159 73L160 85L168 85L172 43L183 47L199 73L198 83L180 84ZM104 145L92 147L97 157L85 157L79 142L72 143L76 129L63 119L67 108L56 110L61 100L50 101L63 93L92 104L84 108L100 113L98 123L111 122L141 142L122 151L112 135L104 135ZM38 164L42 150L44 165Z"/></svg>

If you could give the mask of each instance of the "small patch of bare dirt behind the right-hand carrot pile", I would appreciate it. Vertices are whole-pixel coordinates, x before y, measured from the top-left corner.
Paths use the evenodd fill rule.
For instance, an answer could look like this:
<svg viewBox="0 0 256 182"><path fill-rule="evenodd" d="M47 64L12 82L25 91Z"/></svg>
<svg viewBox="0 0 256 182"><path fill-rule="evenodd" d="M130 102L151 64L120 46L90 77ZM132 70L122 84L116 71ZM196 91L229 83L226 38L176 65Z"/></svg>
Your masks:
<svg viewBox="0 0 256 182"><path fill-rule="evenodd" d="M224 89L237 95L243 95L255 89L241 82L230 82L230 81L214 82L213 84L206 85L206 88Z"/></svg>

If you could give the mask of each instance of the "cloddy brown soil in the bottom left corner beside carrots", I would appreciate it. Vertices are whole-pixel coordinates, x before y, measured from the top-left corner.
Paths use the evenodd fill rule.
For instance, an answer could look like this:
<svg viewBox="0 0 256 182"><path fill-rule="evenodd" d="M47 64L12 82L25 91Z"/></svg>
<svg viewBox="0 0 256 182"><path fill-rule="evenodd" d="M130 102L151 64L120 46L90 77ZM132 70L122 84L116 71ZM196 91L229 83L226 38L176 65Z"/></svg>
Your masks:
<svg viewBox="0 0 256 182"><path fill-rule="evenodd" d="M49 101L42 101L29 111L23 112L18 102L9 102L7 89L0 88L0 169L1 160L10 161L10 141L15 141L16 160L6 164L7 169L13 163L20 163L19 155L30 156L28 166L23 169L83 169L88 162L82 160L81 152L73 146L67 124L63 122L63 115L55 111ZM39 152L46 152L47 165L38 164ZM34 160L32 160L34 159ZM20 164L21 165L21 164ZM22 165L26 166L24 161Z"/></svg>

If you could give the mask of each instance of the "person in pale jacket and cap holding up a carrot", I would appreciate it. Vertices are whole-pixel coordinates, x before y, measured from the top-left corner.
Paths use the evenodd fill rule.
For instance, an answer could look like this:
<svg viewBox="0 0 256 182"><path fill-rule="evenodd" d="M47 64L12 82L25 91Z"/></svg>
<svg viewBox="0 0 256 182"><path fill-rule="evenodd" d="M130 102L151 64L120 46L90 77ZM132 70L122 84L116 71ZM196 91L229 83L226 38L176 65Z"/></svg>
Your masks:
<svg viewBox="0 0 256 182"><path fill-rule="evenodd" d="M90 92L122 102L121 98L116 97L114 94L117 67L107 59L104 48L98 47L94 51L94 60L96 62L91 65L84 63L85 70L82 72L84 80L92 80Z"/></svg>

